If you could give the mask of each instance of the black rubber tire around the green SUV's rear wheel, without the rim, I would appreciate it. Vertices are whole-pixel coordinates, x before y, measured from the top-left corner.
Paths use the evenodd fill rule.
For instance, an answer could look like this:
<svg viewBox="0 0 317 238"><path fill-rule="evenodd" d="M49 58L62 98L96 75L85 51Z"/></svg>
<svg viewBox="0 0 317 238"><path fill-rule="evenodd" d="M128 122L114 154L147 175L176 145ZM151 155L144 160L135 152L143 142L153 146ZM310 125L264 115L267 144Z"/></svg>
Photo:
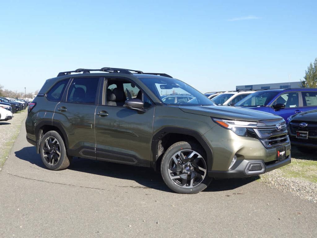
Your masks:
<svg viewBox="0 0 317 238"><path fill-rule="evenodd" d="M58 143L60 144L60 147L61 147L60 160L54 165L48 164L48 162L46 162L46 160L44 158L43 144L44 144L45 140L48 137L50 137L50 136L53 136L54 138L56 138L56 140L58 141ZM44 163L46 168L48 168L50 170L57 170L57 169L59 169L61 167L61 165L64 162L65 156L66 156L66 149L65 149L65 145L64 145L63 139L61 138L61 136L56 131L49 131L42 137L42 140L41 140L41 143L40 143L40 155L41 155L42 162Z"/></svg>

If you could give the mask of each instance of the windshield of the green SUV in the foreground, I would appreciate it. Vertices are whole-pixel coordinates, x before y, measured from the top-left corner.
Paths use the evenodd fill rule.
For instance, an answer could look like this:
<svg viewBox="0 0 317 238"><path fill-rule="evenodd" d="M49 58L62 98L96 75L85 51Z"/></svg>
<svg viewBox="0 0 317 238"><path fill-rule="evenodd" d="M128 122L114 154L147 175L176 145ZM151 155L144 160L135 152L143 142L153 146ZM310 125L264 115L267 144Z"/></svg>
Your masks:
<svg viewBox="0 0 317 238"><path fill-rule="evenodd" d="M168 105L215 105L204 94L175 78L139 78L139 80Z"/></svg>

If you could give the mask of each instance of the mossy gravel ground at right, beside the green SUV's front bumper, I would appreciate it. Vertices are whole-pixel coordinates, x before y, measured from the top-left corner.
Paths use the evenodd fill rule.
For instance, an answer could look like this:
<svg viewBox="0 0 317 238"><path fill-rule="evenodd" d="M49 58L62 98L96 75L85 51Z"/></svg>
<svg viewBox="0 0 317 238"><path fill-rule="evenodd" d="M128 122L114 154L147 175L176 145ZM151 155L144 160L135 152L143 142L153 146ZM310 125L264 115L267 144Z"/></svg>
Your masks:
<svg viewBox="0 0 317 238"><path fill-rule="evenodd" d="M317 203L316 153L301 153L292 147L292 163L261 175L261 182L301 199Z"/></svg>

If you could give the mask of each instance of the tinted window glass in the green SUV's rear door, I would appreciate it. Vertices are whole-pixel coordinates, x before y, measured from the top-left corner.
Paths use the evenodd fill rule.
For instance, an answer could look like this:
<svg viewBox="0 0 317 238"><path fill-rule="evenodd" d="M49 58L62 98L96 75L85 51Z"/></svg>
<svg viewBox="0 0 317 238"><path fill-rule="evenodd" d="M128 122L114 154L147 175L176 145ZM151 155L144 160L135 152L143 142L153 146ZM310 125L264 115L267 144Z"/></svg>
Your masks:
<svg viewBox="0 0 317 238"><path fill-rule="evenodd" d="M69 86L67 102L95 103L99 78L74 78Z"/></svg>

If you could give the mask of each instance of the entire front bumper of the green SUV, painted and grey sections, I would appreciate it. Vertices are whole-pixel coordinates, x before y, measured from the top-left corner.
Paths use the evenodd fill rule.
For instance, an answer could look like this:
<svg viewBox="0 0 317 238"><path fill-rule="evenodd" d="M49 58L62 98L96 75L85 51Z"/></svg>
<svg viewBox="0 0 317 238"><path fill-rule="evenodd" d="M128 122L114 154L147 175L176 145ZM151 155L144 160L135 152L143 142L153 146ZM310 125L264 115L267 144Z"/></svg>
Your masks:
<svg viewBox="0 0 317 238"><path fill-rule="evenodd" d="M204 137L209 143L213 155L212 160L208 158L209 177L250 177L291 162L291 145L288 137L285 142L268 148L259 139L237 136L231 130L221 127L214 127L205 133ZM286 150L286 159L281 161L277 160L277 148L280 147L285 147ZM229 170L234 155L236 155L237 161Z"/></svg>

